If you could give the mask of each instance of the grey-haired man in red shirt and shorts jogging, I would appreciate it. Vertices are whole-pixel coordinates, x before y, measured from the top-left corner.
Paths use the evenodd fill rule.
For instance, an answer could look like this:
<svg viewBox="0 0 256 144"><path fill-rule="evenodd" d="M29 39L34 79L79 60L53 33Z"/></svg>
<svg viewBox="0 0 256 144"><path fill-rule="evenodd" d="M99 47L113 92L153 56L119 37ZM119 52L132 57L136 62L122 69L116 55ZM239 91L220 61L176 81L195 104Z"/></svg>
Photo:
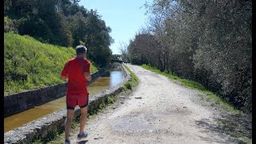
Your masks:
<svg viewBox="0 0 256 144"><path fill-rule="evenodd" d="M80 131L78 138L86 138L84 130L87 119L88 91L87 82L90 81L90 62L86 61L86 46L76 47L77 57L66 62L62 70L62 80L68 79L66 90L66 122L65 122L65 143L70 143L71 122L74 118L74 107L79 106L81 111Z"/></svg>

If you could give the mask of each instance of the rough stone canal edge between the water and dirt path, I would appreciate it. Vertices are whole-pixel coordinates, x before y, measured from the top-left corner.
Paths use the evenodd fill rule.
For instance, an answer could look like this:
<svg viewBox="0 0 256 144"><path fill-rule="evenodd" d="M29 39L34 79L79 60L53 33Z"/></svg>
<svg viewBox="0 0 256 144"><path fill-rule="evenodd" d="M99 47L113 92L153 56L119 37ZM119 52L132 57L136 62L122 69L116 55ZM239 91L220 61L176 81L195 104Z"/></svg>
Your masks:
<svg viewBox="0 0 256 144"><path fill-rule="evenodd" d="M124 83L130 81L130 72L122 64L122 70L126 78L124 81L114 86L111 89L105 90L102 93L96 94L89 100L89 112L96 109L102 102L106 101L108 96L115 96L119 94L124 89ZM75 116L80 114L78 108L75 109ZM27 123L15 130L10 130L4 134L4 143L30 143L33 138L46 138L47 134L53 130L58 130L59 127L64 126L66 118L66 108L62 110L55 111L53 114L46 115L42 118Z"/></svg>

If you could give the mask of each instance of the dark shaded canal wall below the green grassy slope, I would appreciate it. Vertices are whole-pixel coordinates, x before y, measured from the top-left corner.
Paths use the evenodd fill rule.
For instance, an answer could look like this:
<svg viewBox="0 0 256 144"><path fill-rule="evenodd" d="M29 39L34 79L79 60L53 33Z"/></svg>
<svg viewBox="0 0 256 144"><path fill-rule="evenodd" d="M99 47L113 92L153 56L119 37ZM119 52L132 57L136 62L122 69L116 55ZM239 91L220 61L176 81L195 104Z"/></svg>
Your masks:
<svg viewBox="0 0 256 144"><path fill-rule="evenodd" d="M88 85L100 77L108 67L109 66L92 74L92 80L88 82ZM6 118L10 115L33 108L34 106L39 106L46 102L53 101L54 99L62 98L65 94L66 82L18 94L11 94L4 98L4 117Z"/></svg>

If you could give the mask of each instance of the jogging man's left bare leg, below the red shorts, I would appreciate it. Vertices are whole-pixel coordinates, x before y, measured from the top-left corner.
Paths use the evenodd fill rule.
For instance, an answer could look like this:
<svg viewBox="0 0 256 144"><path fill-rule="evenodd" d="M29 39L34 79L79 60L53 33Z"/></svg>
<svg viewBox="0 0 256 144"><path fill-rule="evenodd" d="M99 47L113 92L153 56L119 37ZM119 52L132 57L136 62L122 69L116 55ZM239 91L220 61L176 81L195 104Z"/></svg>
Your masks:
<svg viewBox="0 0 256 144"><path fill-rule="evenodd" d="M65 138L69 139L70 130L71 130L71 122L74 118L74 110L67 109L66 110L66 121L65 121Z"/></svg>

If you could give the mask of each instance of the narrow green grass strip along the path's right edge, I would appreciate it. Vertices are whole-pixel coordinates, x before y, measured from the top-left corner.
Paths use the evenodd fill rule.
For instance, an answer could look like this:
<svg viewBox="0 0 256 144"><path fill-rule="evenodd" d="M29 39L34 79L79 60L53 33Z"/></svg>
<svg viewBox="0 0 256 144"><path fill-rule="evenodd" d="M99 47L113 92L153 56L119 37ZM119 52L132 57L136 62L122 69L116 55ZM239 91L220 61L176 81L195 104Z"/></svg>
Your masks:
<svg viewBox="0 0 256 144"><path fill-rule="evenodd" d="M174 75L174 74L161 72L156 67L147 66L145 64L143 64L142 67L145 68L146 70L150 70L155 73L162 74L162 75L166 76L167 78L177 80L178 82L180 82L182 84L182 86L186 86L186 87L201 91L203 94L208 95L208 98L206 98L206 101L212 100L214 102L214 104L220 105L224 109L226 109L232 113L236 113L236 114L242 113L241 110L237 110L234 108L234 106L231 106L229 103L224 102L222 100L222 98L220 98L217 94L214 94L214 93L210 92L209 90L206 90L206 88L198 82L190 81L190 80L187 80L184 78L179 78L177 75Z"/></svg>

